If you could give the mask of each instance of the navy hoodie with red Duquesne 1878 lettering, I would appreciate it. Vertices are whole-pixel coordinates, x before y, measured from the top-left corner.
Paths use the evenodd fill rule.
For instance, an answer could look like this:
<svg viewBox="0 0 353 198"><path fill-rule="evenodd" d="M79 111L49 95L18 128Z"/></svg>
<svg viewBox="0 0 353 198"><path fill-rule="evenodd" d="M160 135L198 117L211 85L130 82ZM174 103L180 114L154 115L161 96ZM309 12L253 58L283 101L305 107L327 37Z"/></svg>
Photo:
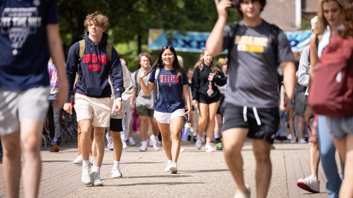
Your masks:
<svg viewBox="0 0 353 198"><path fill-rule="evenodd" d="M95 45L85 33L85 51L80 62L79 80L76 83L76 93L84 94L92 98L105 98L112 95L108 82L109 72L113 77L113 87L116 98L120 98L123 89L122 68L120 57L115 48L112 47L112 62L108 63L106 45L109 35L103 33L102 41ZM71 95L73 84L78 70L79 42L70 47L66 62L68 81L68 93ZM66 103L70 102L70 98Z"/></svg>

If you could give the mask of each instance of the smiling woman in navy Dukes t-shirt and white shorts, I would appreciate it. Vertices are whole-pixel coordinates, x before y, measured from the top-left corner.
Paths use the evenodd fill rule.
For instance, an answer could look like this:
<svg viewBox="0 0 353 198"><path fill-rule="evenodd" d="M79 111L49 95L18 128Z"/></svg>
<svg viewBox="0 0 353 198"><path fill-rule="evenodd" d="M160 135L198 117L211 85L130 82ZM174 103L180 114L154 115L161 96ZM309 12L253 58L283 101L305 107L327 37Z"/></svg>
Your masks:
<svg viewBox="0 0 353 198"><path fill-rule="evenodd" d="M143 78L148 76L147 85ZM177 173L177 160L180 152L180 130L183 125L184 115L190 120L190 95L187 88L186 70L177 58L177 53L170 45L162 47L156 62L150 72L144 71L139 76L141 89L145 95L152 92L157 84L157 96L155 99L154 117L162 134L164 151L168 158L165 171ZM187 112L185 112L185 102ZM172 144L170 143L172 138Z"/></svg>

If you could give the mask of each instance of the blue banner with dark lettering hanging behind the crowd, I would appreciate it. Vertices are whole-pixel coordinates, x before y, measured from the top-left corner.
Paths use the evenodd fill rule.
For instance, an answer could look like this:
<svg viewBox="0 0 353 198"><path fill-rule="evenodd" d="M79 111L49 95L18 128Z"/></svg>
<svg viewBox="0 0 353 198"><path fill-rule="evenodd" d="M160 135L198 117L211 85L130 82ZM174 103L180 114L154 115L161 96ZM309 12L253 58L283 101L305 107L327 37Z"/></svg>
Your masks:
<svg viewBox="0 0 353 198"><path fill-rule="evenodd" d="M309 44L311 30L285 32L293 52L301 52ZM153 50L160 50L163 45L171 45L176 51L201 53L205 47L206 40L210 33L188 31L186 35L172 31L172 38L168 38L161 29L150 29L148 36L148 46ZM222 53L227 53L225 50Z"/></svg>

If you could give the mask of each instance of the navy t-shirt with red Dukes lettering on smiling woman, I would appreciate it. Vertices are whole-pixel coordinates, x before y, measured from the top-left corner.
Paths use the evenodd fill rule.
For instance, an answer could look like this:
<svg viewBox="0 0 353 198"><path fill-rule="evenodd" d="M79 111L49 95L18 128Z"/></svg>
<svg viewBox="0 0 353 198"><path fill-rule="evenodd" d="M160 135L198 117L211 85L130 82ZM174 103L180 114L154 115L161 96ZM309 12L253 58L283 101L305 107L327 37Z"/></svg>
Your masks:
<svg viewBox="0 0 353 198"><path fill-rule="evenodd" d="M154 83L156 69L151 71L148 81ZM184 79L178 79L177 72L173 70L161 69L158 77L159 99L155 99L155 111L172 113L177 109L184 109L185 102L183 96L183 86L187 85L187 77L184 72Z"/></svg>

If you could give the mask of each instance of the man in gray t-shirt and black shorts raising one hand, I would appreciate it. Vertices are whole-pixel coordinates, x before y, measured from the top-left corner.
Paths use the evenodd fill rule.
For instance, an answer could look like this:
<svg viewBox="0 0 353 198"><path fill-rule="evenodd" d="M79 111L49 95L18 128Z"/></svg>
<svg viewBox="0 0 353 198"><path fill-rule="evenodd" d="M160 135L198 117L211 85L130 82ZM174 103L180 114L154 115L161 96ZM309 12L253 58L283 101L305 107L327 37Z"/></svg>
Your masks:
<svg viewBox="0 0 353 198"><path fill-rule="evenodd" d="M266 0L215 0L218 20L206 42L211 55L229 50L229 78L225 98L223 144L225 158L237 183L235 197L250 197L244 184L240 151L246 136L253 140L257 197L266 197L271 179L270 145L279 124L277 61L284 73L288 109L293 97L294 56L286 35L265 22L261 11ZM234 3L242 20L226 25L227 10ZM251 80L250 80L251 79Z"/></svg>

